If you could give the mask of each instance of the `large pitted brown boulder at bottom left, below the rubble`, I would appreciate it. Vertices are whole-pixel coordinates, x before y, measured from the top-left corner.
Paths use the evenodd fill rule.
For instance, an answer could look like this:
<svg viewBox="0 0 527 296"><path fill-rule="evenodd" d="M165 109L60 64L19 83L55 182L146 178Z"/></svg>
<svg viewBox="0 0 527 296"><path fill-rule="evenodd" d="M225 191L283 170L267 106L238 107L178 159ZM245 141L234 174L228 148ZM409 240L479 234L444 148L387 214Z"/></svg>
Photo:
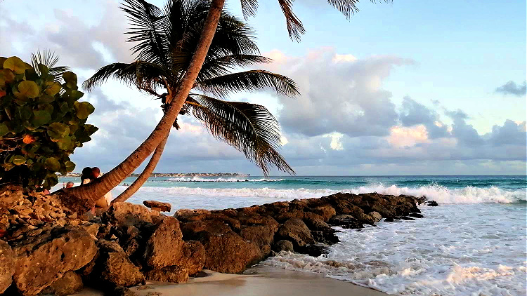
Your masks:
<svg viewBox="0 0 527 296"><path fill-rule="evenodd" d="M36 295L67 271L84 267L97 253L92 236L82 227L55 227L15 241L12 248L13 281L22 295Z"/></svg>

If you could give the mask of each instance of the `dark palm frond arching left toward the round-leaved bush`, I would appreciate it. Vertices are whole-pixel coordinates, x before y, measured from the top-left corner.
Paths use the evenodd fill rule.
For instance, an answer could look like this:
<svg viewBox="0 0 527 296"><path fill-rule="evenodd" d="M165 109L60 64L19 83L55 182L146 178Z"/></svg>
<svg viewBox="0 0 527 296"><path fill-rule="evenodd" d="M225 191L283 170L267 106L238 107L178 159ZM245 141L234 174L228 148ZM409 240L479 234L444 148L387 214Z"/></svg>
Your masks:
<svg viewBox="0 0 527 296"><path fill-rule="evenodd" d="M91 91L95 86L99 86L113 77L129 86L136 86L148 93L155 93L156 88L164 86L160 79L166 75L167 73L162 67L151 62L137 61L129 64L115 62L98 69L93 76L82 83L82 87Z"/></svg>

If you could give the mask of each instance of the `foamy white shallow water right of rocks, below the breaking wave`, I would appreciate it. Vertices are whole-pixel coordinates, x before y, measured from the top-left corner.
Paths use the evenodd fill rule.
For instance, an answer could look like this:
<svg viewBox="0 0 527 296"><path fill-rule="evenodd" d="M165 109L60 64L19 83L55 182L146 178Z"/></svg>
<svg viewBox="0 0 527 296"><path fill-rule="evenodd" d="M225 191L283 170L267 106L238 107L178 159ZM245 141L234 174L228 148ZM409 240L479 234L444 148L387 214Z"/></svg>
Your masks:
<svg viewBox="0 0 527 296"><path fill-rule="evenodd" d="M525 206L464 204L422 211L424 219L341 229L341 243L326 256L280 253L262 264L396 295L526 295Z"/></svg>

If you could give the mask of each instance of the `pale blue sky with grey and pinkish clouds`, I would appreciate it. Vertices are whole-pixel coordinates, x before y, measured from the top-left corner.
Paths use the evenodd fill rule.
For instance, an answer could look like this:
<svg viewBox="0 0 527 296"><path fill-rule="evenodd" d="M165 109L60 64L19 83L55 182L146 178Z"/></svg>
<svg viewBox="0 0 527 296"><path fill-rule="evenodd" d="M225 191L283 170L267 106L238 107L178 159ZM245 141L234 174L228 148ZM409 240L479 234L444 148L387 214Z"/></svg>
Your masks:
<svg viewBox="0 0 527 296"><path fill-rule="evenodd" d="M241 16L239 1L226 4ZM260 1L247 20L261 54L273 59L252 69L289 76L301 95L229 100L276 116L280 152L298 175L526 174L525 1L361 1L358 8L346 20L326 1L295 1L306 27L300 42L289 39L278 1ZM134 59L128 27L119 1L4 0L0 55L29 60L50 49L84 81L103 65ZM71 156L79 172L117 166L162 116L158 100L118 81L82 100L96 107L89 123L100 129ZM156 172L261 175L199 122L178 122Z"/></svg>

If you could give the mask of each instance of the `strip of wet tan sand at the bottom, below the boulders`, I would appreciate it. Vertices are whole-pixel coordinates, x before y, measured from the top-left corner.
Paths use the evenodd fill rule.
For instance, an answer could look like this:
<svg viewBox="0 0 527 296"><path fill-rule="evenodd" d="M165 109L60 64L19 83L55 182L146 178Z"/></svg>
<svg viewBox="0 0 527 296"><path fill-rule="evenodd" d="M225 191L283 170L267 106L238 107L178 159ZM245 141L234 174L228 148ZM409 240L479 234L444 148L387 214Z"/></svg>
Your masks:
<svg viewBox="0 0 527 296"><path fill-rule="evenodd" d="M220 274L206 271L208 276L191 278L188 283L167 284L148 281L146 285L131 288L141 296L193 295L193 296L386 296L383 292L363 288L345 281L319 274L287 271L271 267L254 267L248 274ZM103 295L86 288L77 296Z"/></svg>

